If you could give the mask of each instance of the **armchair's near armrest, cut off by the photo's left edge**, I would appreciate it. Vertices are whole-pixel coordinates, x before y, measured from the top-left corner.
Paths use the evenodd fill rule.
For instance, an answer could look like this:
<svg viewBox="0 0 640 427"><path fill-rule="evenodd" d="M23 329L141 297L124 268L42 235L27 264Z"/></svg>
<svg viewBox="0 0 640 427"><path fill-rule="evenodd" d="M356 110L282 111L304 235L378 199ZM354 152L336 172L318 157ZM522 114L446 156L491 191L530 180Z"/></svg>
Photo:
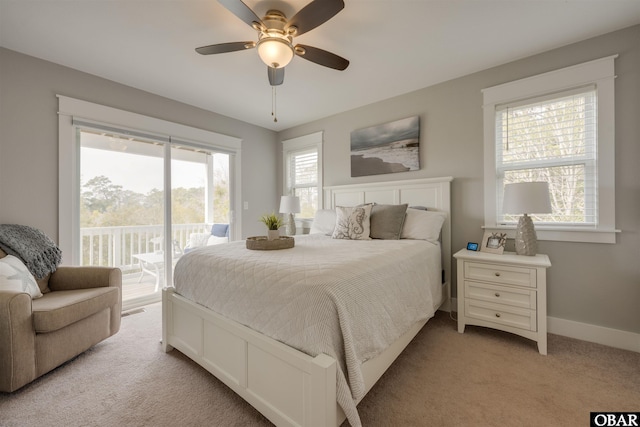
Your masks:
<svg viewBox="0 0 640 427"><path fill-rule="evenodd" d="M0 391L11 392L36 377L31 295L0 291Z"/></svg>

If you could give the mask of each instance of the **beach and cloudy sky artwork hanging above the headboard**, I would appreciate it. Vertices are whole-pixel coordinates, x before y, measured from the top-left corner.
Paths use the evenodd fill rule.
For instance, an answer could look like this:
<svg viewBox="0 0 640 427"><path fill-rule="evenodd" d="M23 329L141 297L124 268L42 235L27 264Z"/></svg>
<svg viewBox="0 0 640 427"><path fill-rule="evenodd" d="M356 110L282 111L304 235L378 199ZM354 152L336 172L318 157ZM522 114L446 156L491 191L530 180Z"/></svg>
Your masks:
<svg viewBox="0 0 640 427"><path fill-rule="evenodd" d="M420 117L351 132L351 176L420 169Z"/></svg>

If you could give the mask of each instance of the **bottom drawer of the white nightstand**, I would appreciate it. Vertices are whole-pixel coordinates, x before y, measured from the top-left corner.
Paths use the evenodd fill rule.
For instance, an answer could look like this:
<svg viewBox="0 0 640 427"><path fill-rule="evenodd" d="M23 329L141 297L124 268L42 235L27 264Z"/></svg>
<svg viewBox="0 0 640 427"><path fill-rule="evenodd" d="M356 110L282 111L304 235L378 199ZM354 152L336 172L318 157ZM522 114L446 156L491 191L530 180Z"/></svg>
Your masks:
<svg viewBox="0 0 640 427"><path fill-rule="evenodd" d="M536 331L535 310L525 310L503 304L465 300L465 316L486 322Z"/></svg>

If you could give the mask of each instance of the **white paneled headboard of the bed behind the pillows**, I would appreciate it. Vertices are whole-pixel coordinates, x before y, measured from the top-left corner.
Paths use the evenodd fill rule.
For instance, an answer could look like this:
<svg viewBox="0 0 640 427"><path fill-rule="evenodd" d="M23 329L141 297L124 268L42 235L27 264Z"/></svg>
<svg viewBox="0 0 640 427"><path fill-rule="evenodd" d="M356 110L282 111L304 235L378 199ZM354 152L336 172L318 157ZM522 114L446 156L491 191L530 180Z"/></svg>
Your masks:
<svg viewBox="0 0 640 427"><path fill-rule="evenodd" d="M324 187L326 209L363 203L407 203L448 213L442 226L443 295L446 295L446 301L441 307L447 311L451 304L451 181L453 177L448 176Z"/></svg>

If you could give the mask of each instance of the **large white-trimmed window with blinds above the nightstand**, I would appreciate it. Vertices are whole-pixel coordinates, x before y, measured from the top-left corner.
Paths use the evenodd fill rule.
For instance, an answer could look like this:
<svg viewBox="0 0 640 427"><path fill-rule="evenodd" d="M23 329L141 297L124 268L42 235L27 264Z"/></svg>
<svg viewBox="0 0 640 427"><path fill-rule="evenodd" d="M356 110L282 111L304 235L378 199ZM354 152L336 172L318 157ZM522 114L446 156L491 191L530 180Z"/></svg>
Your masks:
<svg viewBox="0 0 640 427"><path fill-rule="evenodd" d="M513 228L505 184L549 183L540 240L615 243L613 57L485 89L485 228Z"/></svg>

